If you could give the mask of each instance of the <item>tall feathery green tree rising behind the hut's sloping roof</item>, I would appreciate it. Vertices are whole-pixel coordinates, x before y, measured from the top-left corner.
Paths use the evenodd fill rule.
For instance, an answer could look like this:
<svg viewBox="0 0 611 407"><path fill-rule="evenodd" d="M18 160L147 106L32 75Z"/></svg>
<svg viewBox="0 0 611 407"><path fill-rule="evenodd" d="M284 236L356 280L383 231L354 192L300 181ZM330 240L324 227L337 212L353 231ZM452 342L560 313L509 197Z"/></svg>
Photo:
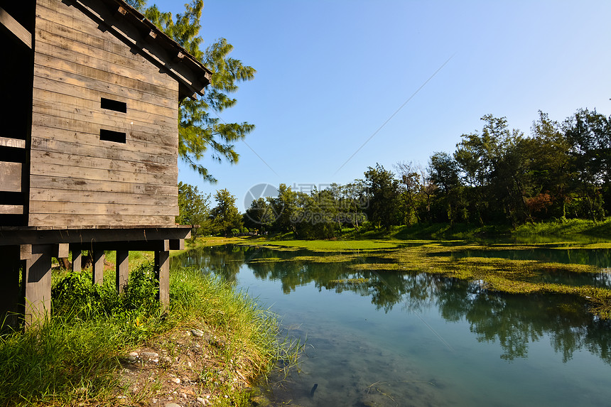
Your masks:
<svg viewBox="0 0 611 407"><path fill-rule="evenodd" d="M176 16L160 11L155 5L145 8L146 0L129 0L128 3L144 13L148 20L212 72L210 85L203 97L185 99L180 103L178 153L202 178L216 183L217 180L200 164L200 160L209 153L215 161L237 163L239 155L234 143L253 131L254 125L247 122L224 123L218 114L237 103L237 99L229 94L237 92L239 82L252 80L256 71L240 60L229 57L233 46L225 38L219 38L201 50L202 0L185 4L185 11Z"/></svg>

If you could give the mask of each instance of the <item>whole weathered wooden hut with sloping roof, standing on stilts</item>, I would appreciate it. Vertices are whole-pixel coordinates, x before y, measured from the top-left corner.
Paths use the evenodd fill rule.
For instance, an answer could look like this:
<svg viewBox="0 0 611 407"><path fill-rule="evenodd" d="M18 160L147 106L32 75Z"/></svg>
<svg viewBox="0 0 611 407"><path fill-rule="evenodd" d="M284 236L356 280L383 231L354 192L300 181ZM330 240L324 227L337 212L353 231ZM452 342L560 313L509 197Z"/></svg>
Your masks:
<svg viewBox="0 0 611 407"><path fill-rule="evenodd" d="M43 317L51 258L83 250L97 282L117 251L119 290L129 250L154 251L167 303L178 104L210 71L122 0L0 0L0 38L0 311Z"/></svg>

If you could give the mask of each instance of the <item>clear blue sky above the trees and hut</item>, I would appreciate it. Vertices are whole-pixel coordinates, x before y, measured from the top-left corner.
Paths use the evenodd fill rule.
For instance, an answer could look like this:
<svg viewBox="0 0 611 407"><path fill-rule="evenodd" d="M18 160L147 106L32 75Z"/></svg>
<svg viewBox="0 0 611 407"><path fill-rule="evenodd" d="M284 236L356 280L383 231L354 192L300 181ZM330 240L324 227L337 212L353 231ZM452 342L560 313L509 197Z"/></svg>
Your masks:
<svg viewBox="0 0 611 407"><path fill-rule="evenodd" d="M177 13L184 3L148 5ZM182 164L179 180L227 188L244 212L260 183L304 189L349 183L376 163L426 165L481 130L484 114L525 134L539 110L558 121L586 107L609 115L610 16L608 0L205 0L205 45L225 37L257 71L222 119L256 129L237 143L237 165L202 161L217 184Z"/></svg>

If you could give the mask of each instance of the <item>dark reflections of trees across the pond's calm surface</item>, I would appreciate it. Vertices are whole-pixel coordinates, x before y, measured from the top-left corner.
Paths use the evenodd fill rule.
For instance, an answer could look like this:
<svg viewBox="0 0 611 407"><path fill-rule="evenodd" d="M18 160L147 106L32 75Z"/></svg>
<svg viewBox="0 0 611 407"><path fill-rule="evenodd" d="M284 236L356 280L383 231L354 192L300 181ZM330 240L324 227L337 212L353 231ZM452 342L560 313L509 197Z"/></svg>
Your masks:
<svg viewBox="0 0 611 407"><path fill-rule="evenodd" d="M611 324L592 318L579 299L490 293L477 282L427 273L377 273L347 267L367 262L364 257L325 264L290 261L303 254L221 246L189 251L173 261L200 266L228 281L235 281L246 264L256 278L281 282L284 294L313 283L318 291L350 291L369 297L372 305L385 313L398 305L406 312L416 313L436 308L447 322L466 321L477 341L498 343L502 348L500 356L507 361L528 357L529 344L548 336L563 362L572 359L575 352L588 351L611 364Z"/></svg>

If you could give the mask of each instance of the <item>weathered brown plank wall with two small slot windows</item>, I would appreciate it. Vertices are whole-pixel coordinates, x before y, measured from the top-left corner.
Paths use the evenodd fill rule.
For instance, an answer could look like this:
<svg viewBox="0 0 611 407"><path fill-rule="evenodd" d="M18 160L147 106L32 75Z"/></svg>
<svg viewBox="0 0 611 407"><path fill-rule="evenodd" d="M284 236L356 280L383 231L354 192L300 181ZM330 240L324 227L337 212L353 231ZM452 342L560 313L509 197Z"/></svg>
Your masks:
<svg viewBox="0 0 611 407"><path fill-rule="evenodd" d="M60 0L38 0L34 44L29 225L173 225L178 82Z"/></svg>

